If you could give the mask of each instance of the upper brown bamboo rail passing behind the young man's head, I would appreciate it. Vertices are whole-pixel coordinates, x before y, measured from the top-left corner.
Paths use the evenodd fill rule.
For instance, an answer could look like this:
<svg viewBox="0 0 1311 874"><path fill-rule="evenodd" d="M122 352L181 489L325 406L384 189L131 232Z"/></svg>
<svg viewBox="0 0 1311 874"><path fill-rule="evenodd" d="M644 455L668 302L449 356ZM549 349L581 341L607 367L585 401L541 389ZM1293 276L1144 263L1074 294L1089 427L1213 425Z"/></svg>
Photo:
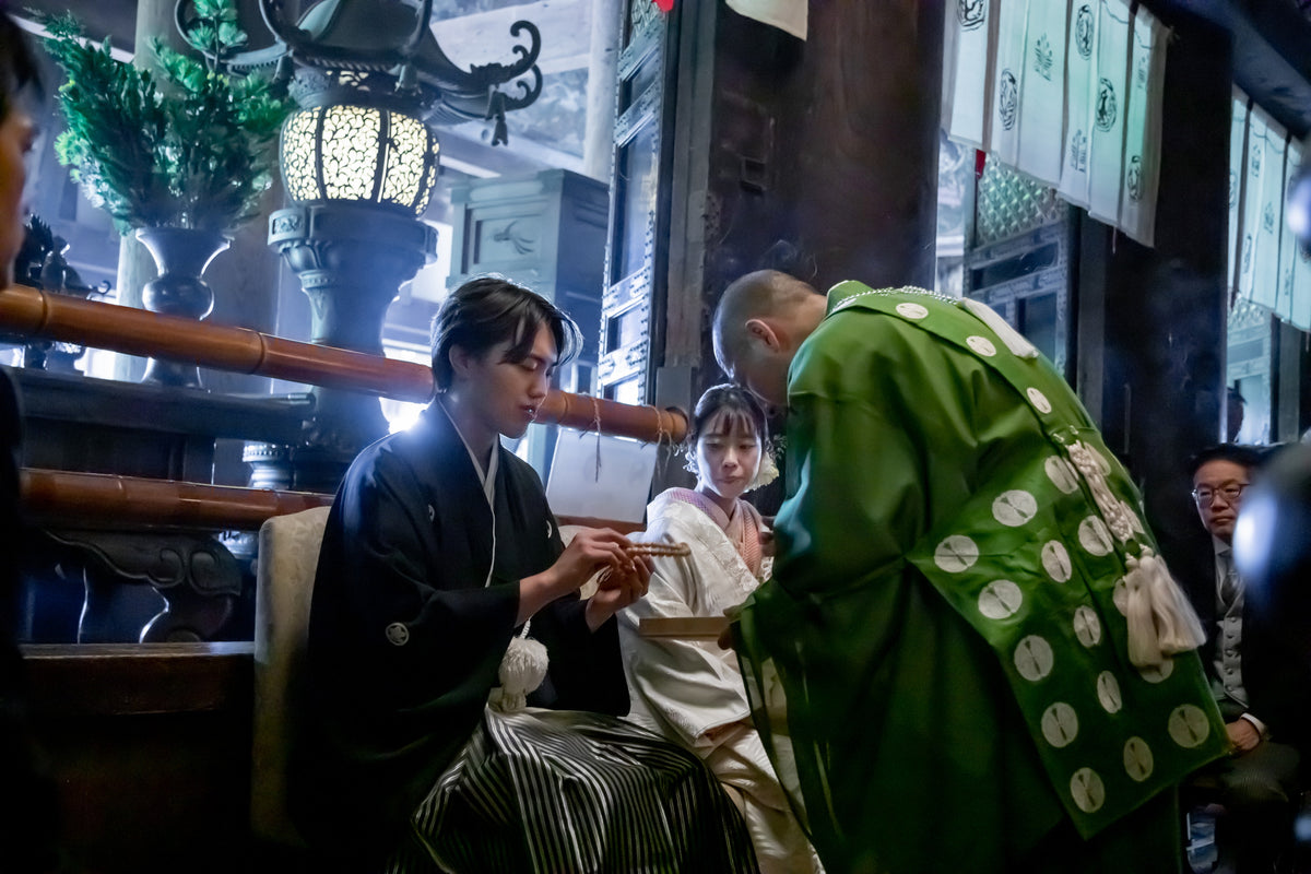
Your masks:
<svg viewBox="0 0 1311 874"><path fill-rule="evenodd" d="M283 339L249 328L210 325L178 316L81 300L28 286L0 291L0 333L41 337L161 358L214 370L253 373L425 402L433 371L425 364ZM598 430L648 443L679 443L687 415L678 409L633 406L587 394L552 390L538 422Z"/></svg>

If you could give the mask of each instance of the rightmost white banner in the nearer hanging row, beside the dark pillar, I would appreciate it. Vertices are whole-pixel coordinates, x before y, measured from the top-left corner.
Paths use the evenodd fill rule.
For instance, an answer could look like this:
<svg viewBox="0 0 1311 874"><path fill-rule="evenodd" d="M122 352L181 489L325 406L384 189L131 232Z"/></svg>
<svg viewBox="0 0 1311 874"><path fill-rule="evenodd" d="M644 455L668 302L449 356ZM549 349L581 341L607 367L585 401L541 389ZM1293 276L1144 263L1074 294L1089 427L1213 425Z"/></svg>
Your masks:
<svg viewBox="0 0 1311 874"><path fill-rule="evenodd" d="M1129 106L1125 110L1125 169L1118 224L1130 238L1150 246L1156 233L1168 30L1155 16L1138 7L1130 33Z"/></svg>

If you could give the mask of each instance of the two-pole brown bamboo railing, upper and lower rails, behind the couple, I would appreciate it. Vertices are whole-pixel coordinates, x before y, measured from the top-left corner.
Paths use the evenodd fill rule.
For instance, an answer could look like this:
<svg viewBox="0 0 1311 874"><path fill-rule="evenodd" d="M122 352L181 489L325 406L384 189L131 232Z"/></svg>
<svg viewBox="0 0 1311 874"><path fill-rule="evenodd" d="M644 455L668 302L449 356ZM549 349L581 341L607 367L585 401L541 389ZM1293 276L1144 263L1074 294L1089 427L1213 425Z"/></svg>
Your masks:
<svg viewBox="0 0 1311 874"><path fill-rule="evenodd" d="M343 349L303 343L248 328L210 325L131 307L45 292L26 286L0 290L0 334L41 337L161 358L215 370L269 376L379 394L404 401L433 397L427 366ZM678 443L687 432L682 410L633 406L552 390L538 422ZM332 503L332 495L215 486L68 470L21 472L21 499L35 522L77 525L159 525L214 531L256 529L266 519ZM562 524L637 525L604 519L564 518Z"/></svg>

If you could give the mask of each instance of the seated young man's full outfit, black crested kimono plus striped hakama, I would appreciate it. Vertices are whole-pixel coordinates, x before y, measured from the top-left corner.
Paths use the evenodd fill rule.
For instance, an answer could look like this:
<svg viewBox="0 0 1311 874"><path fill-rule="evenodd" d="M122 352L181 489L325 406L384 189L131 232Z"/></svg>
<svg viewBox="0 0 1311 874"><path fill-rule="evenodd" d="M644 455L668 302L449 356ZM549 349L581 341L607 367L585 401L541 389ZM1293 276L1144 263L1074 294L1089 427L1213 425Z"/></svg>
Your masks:
<svg viewBox="0 0 1311 874"><path fill-rule="evenodd" d="M292 816L351 871L755 870L701 761L612 718L628 712L616 624L593 633L577 594L531 620L549 668L530 709L485 706L519 580L562 550L538 474L497 452L489 504L433 405L347 472L315 582Z"/></svg>

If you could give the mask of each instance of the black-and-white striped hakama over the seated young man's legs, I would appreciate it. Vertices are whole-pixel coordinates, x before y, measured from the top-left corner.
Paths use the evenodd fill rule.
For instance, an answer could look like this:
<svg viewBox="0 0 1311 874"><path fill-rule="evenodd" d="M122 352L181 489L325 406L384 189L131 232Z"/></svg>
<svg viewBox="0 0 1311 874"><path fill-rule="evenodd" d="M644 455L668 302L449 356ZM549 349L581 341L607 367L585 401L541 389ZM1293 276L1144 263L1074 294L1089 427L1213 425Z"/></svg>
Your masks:
<svg viewBox="0 0 1311 874"><path fill-rule="evenodd" d="M756 870L741 815L696 756L595 713L485 709L412 828L391 874Z"/></svg>

